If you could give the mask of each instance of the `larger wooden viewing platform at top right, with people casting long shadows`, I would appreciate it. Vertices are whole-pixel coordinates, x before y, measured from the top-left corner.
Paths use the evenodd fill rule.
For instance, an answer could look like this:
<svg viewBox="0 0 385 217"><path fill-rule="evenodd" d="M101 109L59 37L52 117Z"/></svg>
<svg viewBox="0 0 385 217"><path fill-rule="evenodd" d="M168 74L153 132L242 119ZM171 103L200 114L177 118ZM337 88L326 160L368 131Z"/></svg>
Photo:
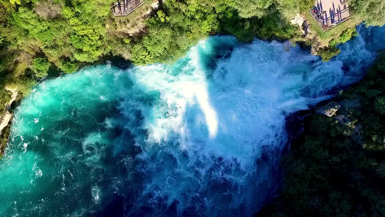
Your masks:
<svg viewBox="0 0 385 217"><path fill-rule="evenodd" d="M324 31L350 18L350 9L346 0L338 0L336 4L333 0L315 0L309 12Z"/></svg>

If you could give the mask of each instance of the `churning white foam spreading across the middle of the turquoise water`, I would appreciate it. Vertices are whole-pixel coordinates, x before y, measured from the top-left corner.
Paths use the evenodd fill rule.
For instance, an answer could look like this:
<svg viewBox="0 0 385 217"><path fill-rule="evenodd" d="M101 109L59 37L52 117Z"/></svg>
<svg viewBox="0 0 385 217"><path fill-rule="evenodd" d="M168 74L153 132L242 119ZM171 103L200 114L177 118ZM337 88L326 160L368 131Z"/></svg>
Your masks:
<svg viewBox="0 0 385 217"><path fill-rule="evenodd" d="M285 51L281 43L255 40L236 47L212 70L200 57L211 52L216 40L211 37L192 48L182 68L153 64L129 70L137 88L160 93L153 107L138 108L148 131L148 140L137 144L144 149L140 158L149 164L141 171L157 171L143 192L143 197L152 195L149 203L167 198L169 205L178 200L181 208L189 203L185 192L190 192L191 199L207 191L211 181L224 179L237 183L238 190L231 193L243 198L231 205L247 204L244 191L271 178L268 168L258 168L256 159L284 147L286 114L331 98L328 91L357 81L363 76L361 69L375 56L365 49L361 36L343 45L340 56L327 63L298 46ZM356 64L350 65L350 59ZM126 103L121 108L130 115ZM165 158L171 163L163 166L171 168L157 166ZM219 161L221 166L216 168ZM266 174L248 183L251 177L260 176L256 171ZM209 207L215 206L213 198L206 199Z"/></svg>

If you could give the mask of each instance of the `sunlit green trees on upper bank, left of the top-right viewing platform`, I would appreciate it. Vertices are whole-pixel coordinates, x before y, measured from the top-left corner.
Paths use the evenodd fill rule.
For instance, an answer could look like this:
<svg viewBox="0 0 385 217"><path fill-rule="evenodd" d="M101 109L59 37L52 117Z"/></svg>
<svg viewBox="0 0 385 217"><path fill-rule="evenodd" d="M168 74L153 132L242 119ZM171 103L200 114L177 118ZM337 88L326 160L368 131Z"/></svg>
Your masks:
<svg viewBox="0 0 385 217"><path fill-rule="evenodd" d="M77 69L78 63L94 62L102 55L124 55L126 51L130 54L124 56L136 64L153 63L180 57L188 46L215 32L235 34L242 41L251 41L256 36L292 37L296 28L280 12L289 7L296 13L311 5L309 0L249 3L167 0L147 20L145 34L131 36L114 34L109 3L109 0L26 0L19 5L1 0L3 47L7 54L17 54L18 64L24 64L25 70L33 70L35 56L45 57L70 73ZM263 13L250 10L261 7ZM121 51L121 47L126 51Z"/></svg>

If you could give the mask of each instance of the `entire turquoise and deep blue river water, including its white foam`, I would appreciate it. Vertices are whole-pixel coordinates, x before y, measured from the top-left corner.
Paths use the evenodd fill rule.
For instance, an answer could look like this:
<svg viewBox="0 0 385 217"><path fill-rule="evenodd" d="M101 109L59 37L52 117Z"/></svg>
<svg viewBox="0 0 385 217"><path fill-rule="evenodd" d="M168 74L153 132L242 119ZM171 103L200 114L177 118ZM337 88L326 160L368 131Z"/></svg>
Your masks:
<svg viewBox="0 0 385 217"><path fill-rule="evenodd" d="M105 65L47 80L15 111L0 214L247 216L278 186L285 117L359 80L365 29L330 62L279 42L209 37L174 65Z"/></svg>

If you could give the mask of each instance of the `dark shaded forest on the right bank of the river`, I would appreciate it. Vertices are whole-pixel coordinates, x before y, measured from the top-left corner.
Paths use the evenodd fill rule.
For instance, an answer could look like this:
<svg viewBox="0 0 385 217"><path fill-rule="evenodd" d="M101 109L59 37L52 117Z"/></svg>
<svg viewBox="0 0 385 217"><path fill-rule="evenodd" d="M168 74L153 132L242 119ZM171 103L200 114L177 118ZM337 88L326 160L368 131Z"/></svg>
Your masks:
<svg viewBox="0 0 385 217"><path fill-rule="evenodd" d="M259 215L384 216L384 90L382 54L364 80L334 99L341 105L335 116L314 115L304 141L282 161L283 192Z"/></svg>

